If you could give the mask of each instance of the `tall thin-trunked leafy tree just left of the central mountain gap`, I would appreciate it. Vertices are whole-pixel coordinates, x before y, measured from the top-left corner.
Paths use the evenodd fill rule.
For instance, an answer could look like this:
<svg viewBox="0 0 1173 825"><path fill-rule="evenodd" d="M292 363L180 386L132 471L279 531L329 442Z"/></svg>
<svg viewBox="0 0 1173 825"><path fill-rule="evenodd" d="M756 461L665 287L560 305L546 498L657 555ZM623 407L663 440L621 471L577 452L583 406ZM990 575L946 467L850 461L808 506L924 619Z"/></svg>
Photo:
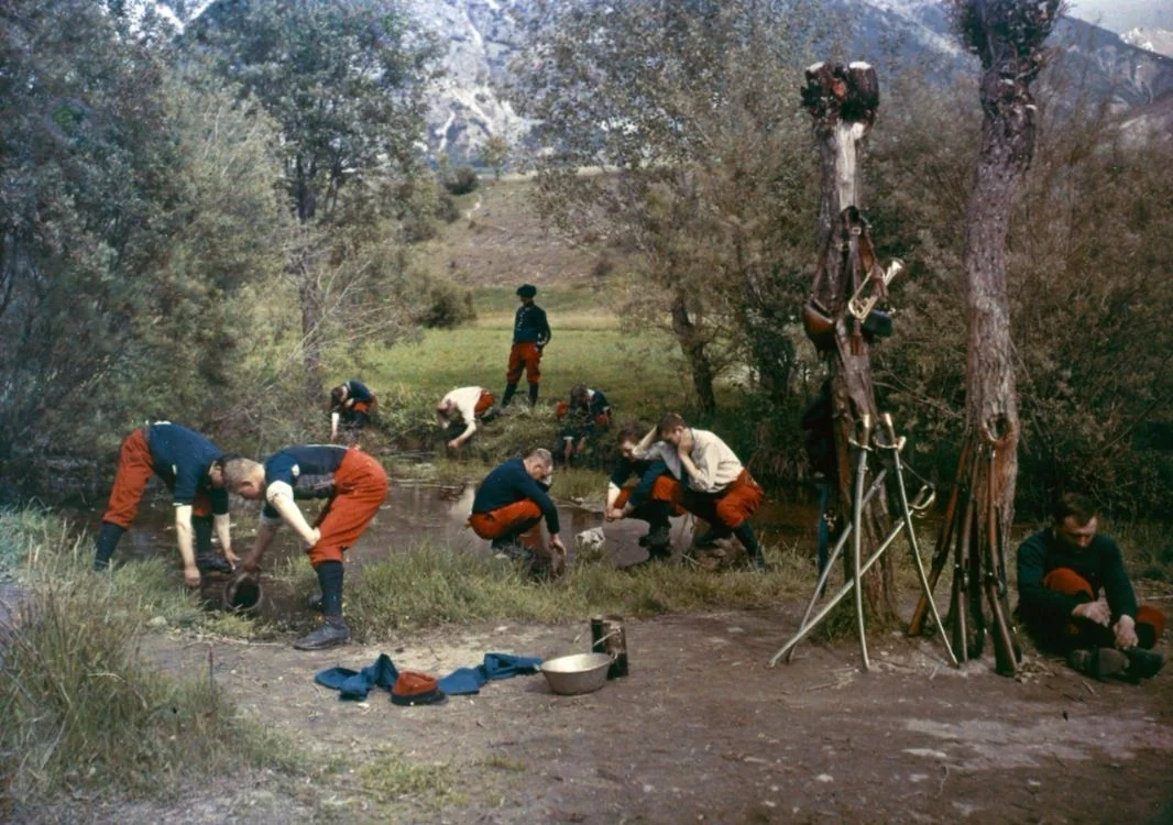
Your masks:
<svg viewBox="0 0 1173 825"><path fill-rule="evenodd" d="M282 180L300 227L290 274L316 398L327 342L401 329L401 307L373 300L386 296L379 261L400 257L362 250L384 243L420 172L435 45L399 4L381 0L221 4L187 36L280 129Z"/></svg>

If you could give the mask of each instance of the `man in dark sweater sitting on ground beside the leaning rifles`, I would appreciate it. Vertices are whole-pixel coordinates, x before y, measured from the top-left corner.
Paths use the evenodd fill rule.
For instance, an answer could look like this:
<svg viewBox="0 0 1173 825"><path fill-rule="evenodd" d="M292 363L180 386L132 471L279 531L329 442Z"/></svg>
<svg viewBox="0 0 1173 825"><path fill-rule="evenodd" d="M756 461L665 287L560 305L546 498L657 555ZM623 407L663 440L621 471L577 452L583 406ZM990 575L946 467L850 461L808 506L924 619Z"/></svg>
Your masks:
<svg viewBox="0 0 1173 825"><path fill-rule="evenodd" d="M1120 548L1098 527L1090 499L1056 499L1051 526L1018 547L1018 614L1042 647L1066 653L1080 673L1153 676L1165 664L1152 649L1165 614L1137 605Z"/></svg>

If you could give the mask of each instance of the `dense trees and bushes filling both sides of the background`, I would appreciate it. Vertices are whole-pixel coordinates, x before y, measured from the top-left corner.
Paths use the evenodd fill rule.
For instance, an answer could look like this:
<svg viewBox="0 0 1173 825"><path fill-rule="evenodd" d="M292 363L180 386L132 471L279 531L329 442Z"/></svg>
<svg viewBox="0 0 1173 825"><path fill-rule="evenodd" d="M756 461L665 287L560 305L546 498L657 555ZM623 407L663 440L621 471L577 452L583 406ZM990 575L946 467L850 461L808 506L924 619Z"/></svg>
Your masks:
<svg viewBox="0 0 1173 825"><path fill-rule="evenodd" d="M818 152L798 87L814 60L857 56L836 54L820 7L537 2L510 90L556 148L530 158L534 209L613 251L594 278L638 285L623 328L676 340L686 412L719 421L774 484L806 473L799 420L821 382L799 323ZM406 7L226 4L182 35L116 2L12 0L0 20L6 496L43 493L46 459L110 461L147 415L231 446L308 437L328 377L468 320L466 285L418 262L455 217L455 173L419 149L442 67ZM981 111L972 79L874 62L865 206L882 255L908 264L876 350L880 407L948 473ZM1060 59L1046 86L1008 257L1019 498L1038 512L1073 480L1168 517L1173 145L1127 130ZM612 171L576 173L592 166Z"/></svg>

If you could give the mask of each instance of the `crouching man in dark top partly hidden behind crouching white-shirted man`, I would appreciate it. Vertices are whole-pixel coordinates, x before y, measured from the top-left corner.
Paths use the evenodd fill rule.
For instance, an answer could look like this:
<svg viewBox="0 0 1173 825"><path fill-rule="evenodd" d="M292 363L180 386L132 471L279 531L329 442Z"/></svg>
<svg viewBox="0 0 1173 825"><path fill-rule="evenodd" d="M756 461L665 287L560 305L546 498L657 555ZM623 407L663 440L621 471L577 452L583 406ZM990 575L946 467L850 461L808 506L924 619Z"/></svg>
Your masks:
<svg viewBox="0 0 1173 825"><path fill-rule="evenodd" d="M647 534L639 546L651 560L672 555L672 516L683 516L684 486L679 482L680 459L666 442L657 441L653 427L646 435L639 424L619 430L619 461L606 485L606 520L636 518L647 521ZM637 483L624 486L636 476Z"/></svg>

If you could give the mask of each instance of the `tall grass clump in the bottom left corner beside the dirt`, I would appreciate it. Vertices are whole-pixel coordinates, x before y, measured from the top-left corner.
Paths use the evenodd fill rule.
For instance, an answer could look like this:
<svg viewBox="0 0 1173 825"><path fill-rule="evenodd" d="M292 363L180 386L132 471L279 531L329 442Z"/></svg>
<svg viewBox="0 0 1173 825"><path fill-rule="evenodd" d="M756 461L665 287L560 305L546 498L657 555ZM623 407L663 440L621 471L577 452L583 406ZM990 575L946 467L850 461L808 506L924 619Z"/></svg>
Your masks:
<svg viewBox="0 0 1173 825"><path fill-rule="evenodd" d="M0 527L32 565L0 627L0 812L157 795L290 752L239 718L210 676L178 680L141 661L136 640L157 607L138 598L142 577L69 574L81 539L36 514L5 514Z"/></svg>

